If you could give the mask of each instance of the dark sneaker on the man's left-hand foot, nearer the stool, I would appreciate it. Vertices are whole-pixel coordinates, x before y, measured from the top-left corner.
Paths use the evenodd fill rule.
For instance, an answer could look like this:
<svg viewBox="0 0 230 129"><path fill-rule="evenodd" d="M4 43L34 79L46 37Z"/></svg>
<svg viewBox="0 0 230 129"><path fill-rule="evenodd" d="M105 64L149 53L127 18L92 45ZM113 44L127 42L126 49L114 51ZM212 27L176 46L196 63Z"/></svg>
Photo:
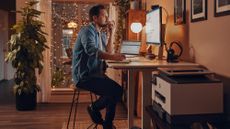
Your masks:
<svg viewBox="0 0 230 129"><path fill-rule="evenodd" d="M87 111L91 117L91 120L95 124L102 124L103 123L101 113L98 110L95 110L92 106L88 106Z"/></svg>

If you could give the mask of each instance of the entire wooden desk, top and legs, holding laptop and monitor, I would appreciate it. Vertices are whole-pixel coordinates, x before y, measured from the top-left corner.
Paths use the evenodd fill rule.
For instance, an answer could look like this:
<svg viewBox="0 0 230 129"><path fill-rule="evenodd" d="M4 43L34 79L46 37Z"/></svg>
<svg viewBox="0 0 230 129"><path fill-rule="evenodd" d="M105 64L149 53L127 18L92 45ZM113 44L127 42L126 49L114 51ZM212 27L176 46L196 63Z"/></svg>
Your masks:
<svg viewBox="0 0 230 129"><path fill-rule="evenodd" d="M152 72L159 67L191 67L199 66L195 63L179 62L168 63L166 60L147 60L144 57L136 57L131 59L130 63L108 63L109 68L125 69L128 71L128 129L131 129L134 124L134 101L135 101L135 78L134 73L141 71L143 73L142 84L142 111L141 111L141 128L150 129L150 117L147 114L145 107L151 105L151 79Z"/></svg>

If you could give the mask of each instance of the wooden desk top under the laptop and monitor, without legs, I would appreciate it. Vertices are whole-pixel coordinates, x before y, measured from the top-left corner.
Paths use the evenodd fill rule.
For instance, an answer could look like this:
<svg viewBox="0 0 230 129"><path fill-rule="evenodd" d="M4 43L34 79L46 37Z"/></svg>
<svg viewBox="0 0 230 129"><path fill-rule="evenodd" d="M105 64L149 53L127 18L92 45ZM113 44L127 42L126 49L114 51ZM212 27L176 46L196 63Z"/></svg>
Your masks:
<svg viewBox="0 0 230 129"><path fill-rule="evenodd" d="M138 69L138 68L156 68L156 67L192 67L199 66L196 63L178 62L168 63L166 60L148 60L144 57L136 57L130 59L130 63L108 63L110 68L115 69Z"/></svg>

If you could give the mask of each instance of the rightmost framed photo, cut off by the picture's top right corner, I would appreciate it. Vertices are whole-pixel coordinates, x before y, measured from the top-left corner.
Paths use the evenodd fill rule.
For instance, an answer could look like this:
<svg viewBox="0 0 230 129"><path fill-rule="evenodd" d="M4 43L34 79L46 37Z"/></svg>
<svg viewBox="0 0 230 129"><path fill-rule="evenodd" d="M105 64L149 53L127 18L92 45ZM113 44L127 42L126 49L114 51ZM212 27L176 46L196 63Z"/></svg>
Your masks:
<svg viewBox="0 0 230 129"><path fill-rule="evenodd" d="M230 0L214 0L215 17L230 15Z"/></svg>

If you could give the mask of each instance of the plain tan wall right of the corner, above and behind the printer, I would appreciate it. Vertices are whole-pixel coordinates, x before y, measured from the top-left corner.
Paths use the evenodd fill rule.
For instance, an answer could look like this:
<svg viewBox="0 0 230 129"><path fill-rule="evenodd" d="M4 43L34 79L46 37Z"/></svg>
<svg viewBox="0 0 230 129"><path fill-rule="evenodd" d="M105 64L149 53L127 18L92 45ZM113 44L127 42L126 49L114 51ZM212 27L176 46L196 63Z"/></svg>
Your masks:
<svg viewBox="0 0 230 129"><path fill-rule="evenodd" d="M189 43L194 48L195 61L221 77L225 112L230 117L230 15L214 17L214 2L208 1L208 20L189 26Z"/></svg>

